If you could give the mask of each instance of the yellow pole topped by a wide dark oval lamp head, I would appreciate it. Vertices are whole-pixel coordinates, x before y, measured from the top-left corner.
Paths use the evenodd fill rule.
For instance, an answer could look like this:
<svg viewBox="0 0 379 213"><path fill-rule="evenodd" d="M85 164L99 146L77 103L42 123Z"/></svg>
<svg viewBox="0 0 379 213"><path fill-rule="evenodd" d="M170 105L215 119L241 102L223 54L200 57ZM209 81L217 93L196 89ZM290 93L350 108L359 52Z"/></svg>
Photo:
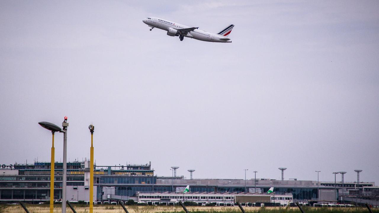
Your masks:
<svg viewBox="0 0 379 213"><path fill-rule="evenodd" d="M49 122L39 122L39 125L44 127L47 130L50 130L53 135L53 141L51 146L51 162L50 162L50 213L53 213L54 211L54 154L55 154L55 148L54 148L54 133L60 132L62 129L58 127L55 124L49 123Z"/></svg>

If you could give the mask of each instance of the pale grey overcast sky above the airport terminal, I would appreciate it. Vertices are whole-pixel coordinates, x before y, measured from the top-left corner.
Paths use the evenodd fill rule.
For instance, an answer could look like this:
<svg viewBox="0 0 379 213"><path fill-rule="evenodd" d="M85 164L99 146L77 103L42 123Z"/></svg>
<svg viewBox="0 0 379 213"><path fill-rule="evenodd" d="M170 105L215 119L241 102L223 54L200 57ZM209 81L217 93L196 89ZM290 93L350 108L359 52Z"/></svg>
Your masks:
<svg viewBox="0 0 379 213"><path fill-rule="evenodd" d="M189 178L379 185L378 1L0 1L0 164L152 162ZM232 43L166 35L156 16ZM63 134L55 136L62 160ZM340 180L340 175L337 180Z"/></svg>

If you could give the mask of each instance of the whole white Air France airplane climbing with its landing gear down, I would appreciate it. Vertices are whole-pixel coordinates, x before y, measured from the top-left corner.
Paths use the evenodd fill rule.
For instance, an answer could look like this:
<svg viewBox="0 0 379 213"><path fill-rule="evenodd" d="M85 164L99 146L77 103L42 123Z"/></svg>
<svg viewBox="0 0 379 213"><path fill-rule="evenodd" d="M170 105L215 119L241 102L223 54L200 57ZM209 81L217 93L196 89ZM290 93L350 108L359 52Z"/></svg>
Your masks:
<svg viewBox="0 0 379 213"><path fill-rule="evenodd" d="M219 33L208 33L204 30L199 30L198 27L188 27L179 23L171 22L168 20L160 19L157 17L147 17L142 20L149 27L150 31L153 28L159 28L161 30L166 30L168 36L179 36L180 41L183 41L184 37L193 38L200 41L209 41L209 42L223 42L230 43L232 40L228 38L230 32L234 25L229 25L224 30L221 30Z"/></svg>

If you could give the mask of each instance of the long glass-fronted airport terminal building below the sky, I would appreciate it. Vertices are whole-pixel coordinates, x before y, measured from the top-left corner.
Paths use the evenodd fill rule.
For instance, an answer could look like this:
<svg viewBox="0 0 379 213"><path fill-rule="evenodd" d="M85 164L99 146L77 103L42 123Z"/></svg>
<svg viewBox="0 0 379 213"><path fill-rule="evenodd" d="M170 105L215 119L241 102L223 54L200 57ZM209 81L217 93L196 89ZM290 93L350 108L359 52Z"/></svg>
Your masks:
<svg viewBox="0 0 379 213"><path fill-rule="evenodd" d="M67 199L69 201L89 200L89 161L67 163ZM62 197L62 167L63 163L55 163L54 199ZM118 201L133 199L146 200L144 196L153 196L153 200L160 194L169 194L169 197L178 197L180 190L189 185L190 192L202 194L196 200L210 202L209 197L229 197L229 202L235 196L244 194L264 194L270 187L274 187L276 197L286 197L291 194L291 202L304 200L319 200L319 202L333 202L348 197L359 196L367 199L377 199L375 194L379 187L370 183L318 182L305 180L272 180L272 179L185 179L177 177L157 177L153 174L151 163L127 164L126 166L94 166L94 200ZM33 164L2 165L0 168L0 202L12 203L24 201L39 203L50 199L50 162L35 162ZM246 189L246 190L245 190ZM319 190L318 190L319 189ZM335 190L336 189L336 190ZM182 190L183 191L183 190ZM147 195L149 194L149 195ZM217 194L210 196L204 194ZM221 196L221 194L223 194ZM225 196L230 194L231 196ZM140 197L143 196L143 197ZM166 197L166 196L165 196ZM199 199L197 199L199 197ZM201 197L207 197L202 199ZM232 198L233 197L233 198ZM337 198L338 197L338 198ZM166 198L164 198L166 199ZM178 198L170 198L174 201ZM179 198L180 199L180 198ZM193 198L191 198L193 199ZM191 200L188 198L188 200ZM211 198L213 199L213 198ZM272 199L272 198L271 198ZM275 198L274 198L275 199ZM289 198L285 198L289 199ZM167 200L167 199L166 199ZM222 199L221 199L222 200ZM214 200L216 202L216 199ZM218 200L219 201L219 200Z"/></svg>

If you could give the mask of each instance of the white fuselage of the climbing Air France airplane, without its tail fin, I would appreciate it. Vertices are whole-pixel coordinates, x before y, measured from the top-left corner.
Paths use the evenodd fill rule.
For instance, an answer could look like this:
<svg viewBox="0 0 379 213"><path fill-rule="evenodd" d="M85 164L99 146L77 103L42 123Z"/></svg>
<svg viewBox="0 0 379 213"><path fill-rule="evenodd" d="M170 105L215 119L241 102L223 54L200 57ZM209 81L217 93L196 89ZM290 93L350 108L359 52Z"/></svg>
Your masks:
<svg viewBox="0 0 379 213"><path fill-rule="evenodd" d="M186 29L186 28L190 28L190 27L188 27L186 25L182 25L180 23L172 22L169 20L164 20L164 19L161 19L158 17L148 17L146 19L143 19L142 21L144 23L146 23L147 25L149 25L149 27L151 27L152 29L153 28L159 28L161 30L166 30L167 34L169 36L180 36L180 35L182 35L182 36L187 37L187 38L193 38L193 39L197 39L200 41L208 41L208 42L222 42L222 43L232 42L231 39L226 40L227 39L226 36L222 36L222 35L219 35L216 33L209 33L207 31L199 30L199 29L194 29L193 31L190 31L190 32L185 33L185 34L180 34L180 33L175 34L176 30ZM150 31L152 29L150 29ZM222 39L224 39L224 40L222 40Z"/></svg>

